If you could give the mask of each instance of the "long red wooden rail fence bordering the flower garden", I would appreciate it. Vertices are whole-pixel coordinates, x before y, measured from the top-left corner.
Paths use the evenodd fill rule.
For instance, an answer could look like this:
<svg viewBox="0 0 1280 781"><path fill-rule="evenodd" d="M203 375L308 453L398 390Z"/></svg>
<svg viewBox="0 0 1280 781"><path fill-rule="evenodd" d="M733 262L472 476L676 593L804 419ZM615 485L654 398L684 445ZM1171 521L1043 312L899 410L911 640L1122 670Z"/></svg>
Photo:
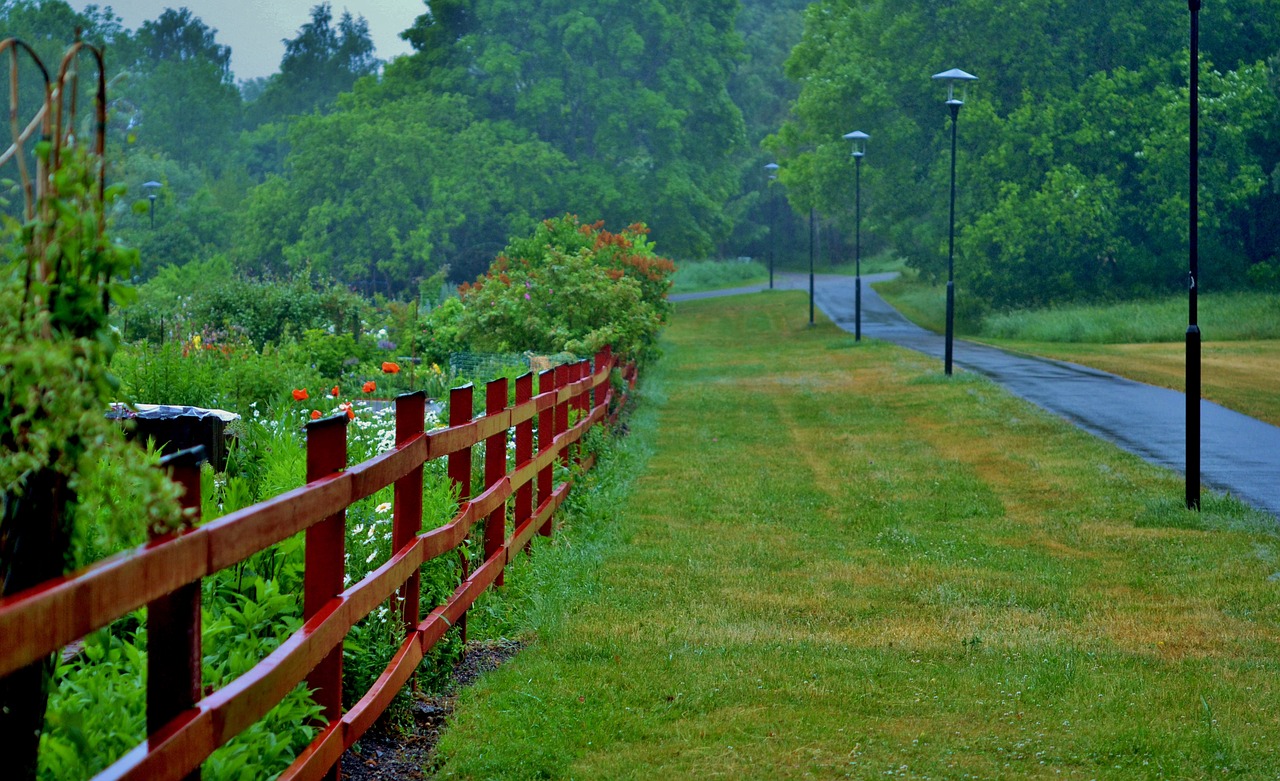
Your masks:
<svg viewBox="0 0 1280 781"><path fill-rule="evenodd" d="M342 753L387 709L449 627L462 625L465 632L467 608L489 585L500 585L512 553L534 534L552 533L553 515L571 488L571 481L554 485L556 460L572 458L572 446L591 426L612 421L625 402L625 396L614 398L609 384L614 365L605 351L596 356L594 370L582 361L544 371L536 396L532 375L521 376L513 406L507 406L507 380L495 380L486 388L485 414L475 419L471 387L456 388L449 426L434 431L425 431L425 396L402 396L396 399L396 448L349 467L346 416L308 424L305 487L202 526L193 522L84 571L0 599L0 676L147 606L150 736L97 778L198 778L200 766L216 748L303 680L315 689L325 725L280 777L338 778ZM623 376L623 388L632 387L634 366L625 367ZM571 410L579 414L572 425ZM511 429L516 466L507 471ZM485 451L484 489L472 495L471 451L479 444ZM200 470L191 456L180 453L169 466L187 488L186 502L198 511ZM422 531L422 467L440 457L448 460L448 474L465 501L449 522ZM343 588L346 508L388 485L394 485L394 552L360 583ZM422 617L419 568L457 549L481 519L488 519L484 563L463 572L453 595ZM201 579L303 530L302 629L247 673L201 696ZM404 621L404 641L372 688L343 713L343 639L389 600Z"/></svg>

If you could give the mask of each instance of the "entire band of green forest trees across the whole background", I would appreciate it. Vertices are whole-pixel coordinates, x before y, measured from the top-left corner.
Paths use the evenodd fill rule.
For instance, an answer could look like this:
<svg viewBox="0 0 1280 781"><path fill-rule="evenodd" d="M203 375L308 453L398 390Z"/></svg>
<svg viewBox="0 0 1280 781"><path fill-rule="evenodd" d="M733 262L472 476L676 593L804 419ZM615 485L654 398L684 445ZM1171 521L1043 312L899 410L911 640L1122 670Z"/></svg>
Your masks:
<svg viewBox="0 0 1280 781"><path fill-rule="evenodd" d="M530 13L436 0L422 12L402 33L415 54L383 63L362 18L316 5L279 72L239 83L228 47L187 9L131 31L92 6L4 0L0 23L50 60L76 28L106 45L113 178L143 206L122 210L115 230L140 248L142 279L216 259L250 278L403 297L442 269L474 279L509 237L566 213L644 221L677 260L763 256L778 192L792 214L814 206L851 233L841 136L852 129L872 136L865 246L936 277L948 119L929 76L960 67L979 77L959 125L968 314L1185 284L1185 5L547 0ZM1275 287L1280 14L1230 0L1202 18L1204 289ZM783 255L804 251L795 225L774 223Z"/></svg>

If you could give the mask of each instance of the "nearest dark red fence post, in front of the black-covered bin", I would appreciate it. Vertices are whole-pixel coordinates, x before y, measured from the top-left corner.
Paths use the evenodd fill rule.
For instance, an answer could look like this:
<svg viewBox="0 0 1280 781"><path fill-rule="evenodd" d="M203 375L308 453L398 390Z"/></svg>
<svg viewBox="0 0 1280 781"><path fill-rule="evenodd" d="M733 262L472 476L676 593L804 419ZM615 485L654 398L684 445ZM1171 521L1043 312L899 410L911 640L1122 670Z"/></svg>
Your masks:
<svg viewBox="0 0 1280 781"><path fill-rule="evenodd" d="M180 531L200 525L200 465L204 446L179 451L160 461L182 487L186 512ZM200 580L147 603L147 735L200 702ZM183 776L200 781L200 768Z"/></svg>

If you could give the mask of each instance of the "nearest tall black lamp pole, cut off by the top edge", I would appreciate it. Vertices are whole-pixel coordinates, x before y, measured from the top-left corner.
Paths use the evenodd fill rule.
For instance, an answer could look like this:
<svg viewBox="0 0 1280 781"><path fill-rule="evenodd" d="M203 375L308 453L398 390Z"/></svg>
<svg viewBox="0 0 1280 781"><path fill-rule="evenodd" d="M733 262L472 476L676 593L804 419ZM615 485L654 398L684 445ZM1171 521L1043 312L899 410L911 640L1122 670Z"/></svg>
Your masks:
<svg viewBox="0 0 1280 781"><path fill-rule="evenodd" d="M1192 12L1190 42L1190 278L1187 318L1187 508L1199 510L1201 467L1201 333L1199 294L1199 9L1201 0L1187 0Z"/></svg>

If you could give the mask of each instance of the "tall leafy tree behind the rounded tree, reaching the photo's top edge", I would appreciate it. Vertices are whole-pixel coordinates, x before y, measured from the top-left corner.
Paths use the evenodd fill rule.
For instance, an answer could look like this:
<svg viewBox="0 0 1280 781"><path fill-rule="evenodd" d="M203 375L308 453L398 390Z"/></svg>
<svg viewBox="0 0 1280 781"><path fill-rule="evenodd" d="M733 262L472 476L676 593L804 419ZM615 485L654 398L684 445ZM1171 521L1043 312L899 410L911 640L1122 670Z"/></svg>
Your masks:
<svg viewBox="0 0 1280 781"><path fill-rule="evenodd" d="M472 97L480 117L515 122L596 179L571 207L617 224L643 215L673 254L703 254L732 227L745 141L727 88L736 12L736 0L547 0L532 14L516 0L443 0L406 31L419 54L387 81Z"/></svg>

